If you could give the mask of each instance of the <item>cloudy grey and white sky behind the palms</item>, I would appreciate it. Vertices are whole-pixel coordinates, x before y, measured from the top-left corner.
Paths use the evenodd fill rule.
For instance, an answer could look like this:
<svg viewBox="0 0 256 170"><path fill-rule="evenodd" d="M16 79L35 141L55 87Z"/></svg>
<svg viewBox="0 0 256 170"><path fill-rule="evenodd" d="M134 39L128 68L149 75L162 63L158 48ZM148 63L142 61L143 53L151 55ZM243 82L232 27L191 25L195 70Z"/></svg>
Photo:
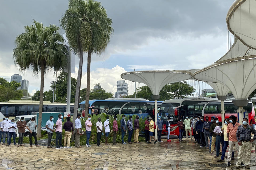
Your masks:
<svg viewBox="0 0 256 170"><path fill-rule="evenodd" d="M226 14L233 1L102 0L114 35L105 53L92 56L90 87L100 83L114 93L116 81L126 71L200 69L215 62L226 53ZM24 26L33 24L33 19L45 26L59 25L67 5L68 0L0 1L0 77L21 74L12 50ZM86 60L85 54L81 88L86 87ZM76 67L78 62L76 57ZM77 70L72 77L77 78ZM29 80L31 94L40 89L40 78L30 70L22 77ZM45 90L54 79L50 71ZM128 83L131 94L134 86Z"/></svg>

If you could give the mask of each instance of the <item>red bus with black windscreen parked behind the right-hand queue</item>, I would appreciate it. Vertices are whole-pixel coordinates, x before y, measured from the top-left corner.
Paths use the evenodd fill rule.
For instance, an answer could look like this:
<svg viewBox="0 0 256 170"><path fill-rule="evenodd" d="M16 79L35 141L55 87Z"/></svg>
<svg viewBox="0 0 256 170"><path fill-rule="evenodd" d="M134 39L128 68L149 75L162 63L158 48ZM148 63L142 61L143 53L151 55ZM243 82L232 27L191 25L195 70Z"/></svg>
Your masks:
<svg viewBox="0 0 256 170"><path fill-rule="evenodd" d="M247 106L243 107L245 117L248 115L248 120L255 116L254 107L251 102ZM229 118L231 115L237 117L238 107L236 107L232 101L224 101L224 110L225 118ZM179 119L182 121L189 116L190 119L193 119L194 116L208 116L209 120L211 116L218 117L219 121L221 120L221 101L215 98L198 98L198 97L188 97L184 99L171 99L166 100L161 104L159 114L163 120L163 131L162 134L167 134L165 127L167 116L171 118L170 126L170 135L179 135L179 128L177 122Z"/></svg>

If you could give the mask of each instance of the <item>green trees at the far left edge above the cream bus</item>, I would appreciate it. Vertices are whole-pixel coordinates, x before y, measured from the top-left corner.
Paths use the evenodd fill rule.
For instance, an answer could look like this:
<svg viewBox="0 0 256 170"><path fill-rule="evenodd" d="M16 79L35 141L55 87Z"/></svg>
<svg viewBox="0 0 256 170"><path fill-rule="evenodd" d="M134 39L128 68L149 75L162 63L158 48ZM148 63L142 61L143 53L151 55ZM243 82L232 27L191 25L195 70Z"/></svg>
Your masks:
<svg viewBox="0 0 256 170"><path fill-rule="evenodd" d="M21 100L23 96L21 90L17 90L21 84L15 81L7 82L5 79L0 78L0 102L6 102L6 100Z"/></svg>

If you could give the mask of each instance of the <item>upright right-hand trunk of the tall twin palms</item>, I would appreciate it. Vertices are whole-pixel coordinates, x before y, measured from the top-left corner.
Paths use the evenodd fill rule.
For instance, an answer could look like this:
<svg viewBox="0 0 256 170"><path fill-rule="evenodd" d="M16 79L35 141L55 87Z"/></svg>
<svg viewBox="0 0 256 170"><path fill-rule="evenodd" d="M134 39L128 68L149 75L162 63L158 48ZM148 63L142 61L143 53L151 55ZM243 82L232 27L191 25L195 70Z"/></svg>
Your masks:
<svg viewBox="0 0 256 170"><path fill-rule="evenodd" d="M91 51L87 55L87 80L86 80L86 96L85 96L85 117L88 116L88 105L90 95L90 74L91 74Z"/></svg>

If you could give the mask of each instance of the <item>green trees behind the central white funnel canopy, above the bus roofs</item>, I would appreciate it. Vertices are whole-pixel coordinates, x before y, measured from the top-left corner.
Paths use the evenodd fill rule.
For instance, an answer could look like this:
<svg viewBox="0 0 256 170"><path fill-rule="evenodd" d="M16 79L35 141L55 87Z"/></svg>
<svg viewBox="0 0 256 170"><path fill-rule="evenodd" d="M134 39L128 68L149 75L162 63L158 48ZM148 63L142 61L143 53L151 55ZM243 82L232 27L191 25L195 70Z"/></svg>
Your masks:
<svg viewBox="0 0 256 170"><path fill-rule="evenodd" d="M195 92L195 89L193 88L193 86L190 86L189 84L187 84L187 82L169 83L166 86L164 86L159 92L159 95L160 95L159 100L164 101L168 99L182 99L182 98L193 95L193 92ZM136 88L137 98L152 100L151 98L152 95L153 94L150 88L147 86ZM134 94L130 96L125 96L125 97L134 98Z"/></svg>

